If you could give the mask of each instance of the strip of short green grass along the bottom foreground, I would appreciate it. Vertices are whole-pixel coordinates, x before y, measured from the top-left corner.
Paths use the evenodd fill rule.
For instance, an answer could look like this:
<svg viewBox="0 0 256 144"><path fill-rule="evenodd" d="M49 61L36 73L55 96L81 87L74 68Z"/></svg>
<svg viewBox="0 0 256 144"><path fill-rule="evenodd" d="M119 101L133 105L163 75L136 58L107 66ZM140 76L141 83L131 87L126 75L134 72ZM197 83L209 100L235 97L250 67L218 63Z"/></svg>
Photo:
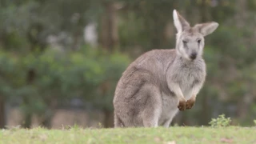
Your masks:
<svg viewBox="0 0 256 144"><path fill-rule="evenodd" d="M136 129L80 129L33 130L11 129L0 130L1 144L36 144L36 143L256 143L256 128L238 126L230 127L170 127L169 129L136 128Z"/></svg>

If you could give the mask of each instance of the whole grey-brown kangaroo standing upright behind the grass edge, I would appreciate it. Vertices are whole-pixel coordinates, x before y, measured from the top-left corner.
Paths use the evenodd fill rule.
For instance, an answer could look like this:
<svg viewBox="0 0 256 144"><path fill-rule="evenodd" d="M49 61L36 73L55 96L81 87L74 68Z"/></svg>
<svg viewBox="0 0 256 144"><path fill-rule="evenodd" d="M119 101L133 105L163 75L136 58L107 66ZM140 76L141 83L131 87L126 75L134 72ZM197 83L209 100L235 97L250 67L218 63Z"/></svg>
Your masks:
<svg viewBox="0 0 256 144"><path fill-rule="evenodd" d="M169 127L178 110L194 106L206 78L204 37L217 22L190 23L173 11L176 46L150 50L127 67L114 92L114 127Z"/></svg>

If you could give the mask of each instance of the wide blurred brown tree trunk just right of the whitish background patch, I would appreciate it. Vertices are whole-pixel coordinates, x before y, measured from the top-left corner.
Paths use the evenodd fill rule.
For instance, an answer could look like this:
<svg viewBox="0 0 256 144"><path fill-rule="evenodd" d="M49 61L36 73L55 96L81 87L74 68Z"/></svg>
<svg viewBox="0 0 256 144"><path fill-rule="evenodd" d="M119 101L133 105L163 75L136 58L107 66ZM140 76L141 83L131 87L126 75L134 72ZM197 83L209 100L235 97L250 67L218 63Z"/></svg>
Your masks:
<svg viewBox="0 0 256 144"><path fill-rule="evenodd" d="M104 7L100 41L103 48L111 51L118 47L118 9L114 2L104 2Z"/></svg>

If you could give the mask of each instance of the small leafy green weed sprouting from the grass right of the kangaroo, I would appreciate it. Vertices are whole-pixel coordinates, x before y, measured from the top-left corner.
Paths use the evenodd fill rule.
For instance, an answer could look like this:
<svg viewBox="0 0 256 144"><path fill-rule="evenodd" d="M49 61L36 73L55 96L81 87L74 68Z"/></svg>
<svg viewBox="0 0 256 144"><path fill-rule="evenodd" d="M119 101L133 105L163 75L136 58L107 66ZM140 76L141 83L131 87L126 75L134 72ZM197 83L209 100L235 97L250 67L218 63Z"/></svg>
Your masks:
<svg viewBox="0 0 256 144"><path fill-rule="evenodd" d="M230 118L225 118L225 114L221 114L218 118L212 118L209 124L213 127L226 127L230 126L230 122Z"/></svg>

